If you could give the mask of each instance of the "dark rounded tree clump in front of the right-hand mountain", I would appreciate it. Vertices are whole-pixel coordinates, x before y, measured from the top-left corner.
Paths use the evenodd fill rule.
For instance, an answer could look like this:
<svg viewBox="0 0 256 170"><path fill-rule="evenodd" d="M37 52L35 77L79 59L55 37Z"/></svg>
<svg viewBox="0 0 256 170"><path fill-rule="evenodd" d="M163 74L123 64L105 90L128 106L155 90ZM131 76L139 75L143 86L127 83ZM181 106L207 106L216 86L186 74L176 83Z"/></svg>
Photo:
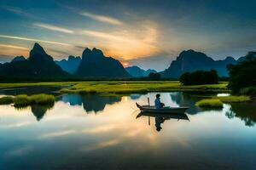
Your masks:
<svg viewBox="0 0 256 170"><path fill-rule="evenodd" d="M183 85L217 84L218 73L214 70L185 72L179 81Z"/></svg>

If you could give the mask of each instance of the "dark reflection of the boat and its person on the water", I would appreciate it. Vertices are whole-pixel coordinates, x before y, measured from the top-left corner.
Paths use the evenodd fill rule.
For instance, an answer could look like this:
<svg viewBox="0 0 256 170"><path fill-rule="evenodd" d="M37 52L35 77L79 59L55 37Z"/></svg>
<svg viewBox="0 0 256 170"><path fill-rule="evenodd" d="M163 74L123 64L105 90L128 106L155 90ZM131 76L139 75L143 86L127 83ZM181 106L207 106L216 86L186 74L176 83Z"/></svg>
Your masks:
<svg viewBox="0 0 256 170"><path fill-rule="evenodd" d="M161 124L171 120L171 119L177 119L177 121L179 120L187 120L189 121L189 117L186 114L173 114L173 113L149 113L149 112L140 112L136 118L139 118L141 116L148 116L148 125L150 126L150 117L154 118L154 126L155 126L155 130L160 132L160 130L162 129Z"/></svg>

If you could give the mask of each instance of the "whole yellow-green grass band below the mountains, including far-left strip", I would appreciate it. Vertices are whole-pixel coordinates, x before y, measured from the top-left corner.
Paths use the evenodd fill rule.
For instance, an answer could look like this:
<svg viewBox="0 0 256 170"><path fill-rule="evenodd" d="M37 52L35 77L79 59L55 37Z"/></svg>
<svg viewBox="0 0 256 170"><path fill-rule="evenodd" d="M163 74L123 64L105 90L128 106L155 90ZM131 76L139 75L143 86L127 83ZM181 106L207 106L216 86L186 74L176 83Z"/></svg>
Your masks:
<svg viewBox="0 0 256 170"><path fill-rule="evenodd" d="M23 82L0 83L0 88L60 86L61 94L145 94L148 92L230 92L227 82L183 86L178 81L106 81L106 82ZM64 86L64 87L63 87Z"/></svg>

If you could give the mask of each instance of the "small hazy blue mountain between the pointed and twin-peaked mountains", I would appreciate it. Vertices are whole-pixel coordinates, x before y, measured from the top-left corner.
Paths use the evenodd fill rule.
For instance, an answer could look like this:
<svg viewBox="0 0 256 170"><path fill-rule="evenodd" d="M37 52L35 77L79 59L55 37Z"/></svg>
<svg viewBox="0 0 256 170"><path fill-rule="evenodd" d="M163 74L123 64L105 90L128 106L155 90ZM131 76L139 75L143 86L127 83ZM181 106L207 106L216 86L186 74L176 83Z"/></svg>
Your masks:
<svg viewBox="0 0 256 170"><path fill-rule="evenodd" d="M61 59L60 61L56 60L55 63L60 65L63 71L73 74L78 70L81 58L79 56L74 57L73 55L70 55L67 59Z"/></svg>

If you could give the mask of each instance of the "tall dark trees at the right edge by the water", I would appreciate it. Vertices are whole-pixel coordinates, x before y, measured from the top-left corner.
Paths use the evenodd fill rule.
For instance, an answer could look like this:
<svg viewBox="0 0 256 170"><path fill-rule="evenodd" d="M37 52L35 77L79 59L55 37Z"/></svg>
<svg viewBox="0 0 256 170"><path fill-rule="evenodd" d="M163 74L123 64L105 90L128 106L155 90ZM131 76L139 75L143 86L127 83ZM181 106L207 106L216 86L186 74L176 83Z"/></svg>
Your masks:
<svg viewBox="0 0 256 170"><path fill-rule="evenodd" d="M233 93L240 93L242 88L256 86L256 51L249 52L238 64L227 67L230 75L228 87Z"/></svg>

